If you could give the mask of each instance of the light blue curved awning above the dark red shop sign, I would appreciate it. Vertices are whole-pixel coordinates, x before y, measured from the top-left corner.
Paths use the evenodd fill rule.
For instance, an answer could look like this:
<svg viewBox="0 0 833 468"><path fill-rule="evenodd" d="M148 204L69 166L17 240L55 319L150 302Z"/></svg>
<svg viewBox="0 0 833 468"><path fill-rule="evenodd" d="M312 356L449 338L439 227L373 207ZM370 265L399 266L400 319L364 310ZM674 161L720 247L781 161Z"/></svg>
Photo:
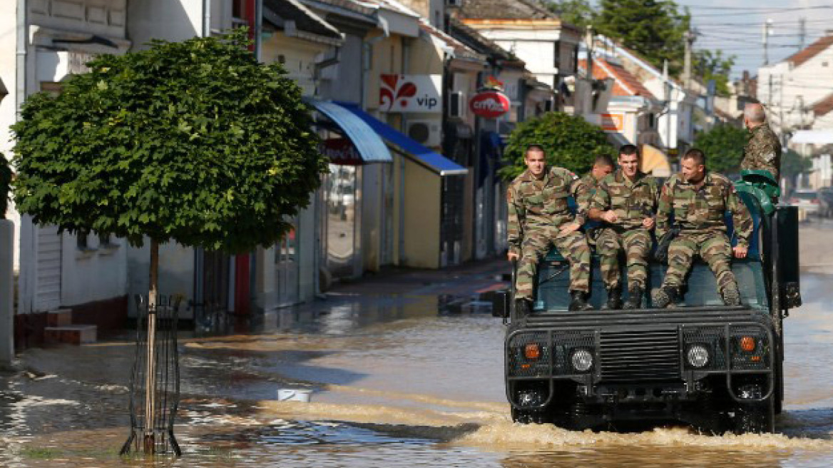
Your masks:
<svg viewBox="0 0 833 468"><path fill-rule="evenodd" d="M393 162L391 152L385 146L385 142L382 142L382 138L356 114L334 102L321 101L312 97L304 97L304 102L329 117L344 131L358 150L362 162Z"/></svg>

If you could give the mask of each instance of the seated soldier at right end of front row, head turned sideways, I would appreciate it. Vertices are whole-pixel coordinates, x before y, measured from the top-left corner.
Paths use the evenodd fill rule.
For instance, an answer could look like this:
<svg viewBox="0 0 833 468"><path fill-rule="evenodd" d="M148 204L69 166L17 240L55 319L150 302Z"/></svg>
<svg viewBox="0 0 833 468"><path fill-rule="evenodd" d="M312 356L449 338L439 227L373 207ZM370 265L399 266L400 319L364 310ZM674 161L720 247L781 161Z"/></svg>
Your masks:
<svg viewBox="0 0 833 468"><path fill-rule="evenodd" d="M694 148L688 150L681 160L681 172L671 176L662 187L656 236L661 237L670 229L671 213L681 231L668 247L666 277L652 297L656 307L666 307L676 301L695 254L699 254L714 272L723 303L726 306L741 304L741 293L731 271L731 256L734 253L737 258L746 257L752 218L731 181L716 172L706 172L705 162L703 152ZM726 236L723 218L726 211L733 217L737 236L734 249Z"/></svg>

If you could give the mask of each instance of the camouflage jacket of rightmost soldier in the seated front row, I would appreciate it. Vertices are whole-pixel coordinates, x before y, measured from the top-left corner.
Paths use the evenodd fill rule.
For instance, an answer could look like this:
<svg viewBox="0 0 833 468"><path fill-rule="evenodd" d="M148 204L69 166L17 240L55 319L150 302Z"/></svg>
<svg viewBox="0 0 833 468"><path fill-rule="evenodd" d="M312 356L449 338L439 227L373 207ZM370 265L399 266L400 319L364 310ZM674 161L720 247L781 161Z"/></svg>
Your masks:
<svg viewBox="0 0 833 468"><path fill-rule="evenodd" d="M706 181L697 189L675 174L662 186L656 213L656 237L670 228L671 215L680 223L682 232L726 232L723 215L729 211L739 246L749 246L752 217L735 192L735 186L725 176L706 172Z"/></svg>

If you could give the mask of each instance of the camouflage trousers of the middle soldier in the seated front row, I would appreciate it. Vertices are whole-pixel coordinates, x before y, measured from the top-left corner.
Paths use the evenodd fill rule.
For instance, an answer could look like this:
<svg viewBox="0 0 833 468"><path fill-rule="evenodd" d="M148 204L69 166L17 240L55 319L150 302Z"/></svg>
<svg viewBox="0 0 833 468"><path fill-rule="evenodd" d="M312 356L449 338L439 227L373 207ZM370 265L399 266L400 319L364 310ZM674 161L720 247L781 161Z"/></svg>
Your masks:
<svg viewBox="0 0 833 468"><path fill-rule="evenodd" d="M638 286L645 290L648 279L648 254L651 251L651 233L642 227L624 232L616 232L606 227L601 231L596 239L596 253L599 254L601 279L605 281L607 289L620 286L619 252L622 250L625 251L629 289Z"/></svg>

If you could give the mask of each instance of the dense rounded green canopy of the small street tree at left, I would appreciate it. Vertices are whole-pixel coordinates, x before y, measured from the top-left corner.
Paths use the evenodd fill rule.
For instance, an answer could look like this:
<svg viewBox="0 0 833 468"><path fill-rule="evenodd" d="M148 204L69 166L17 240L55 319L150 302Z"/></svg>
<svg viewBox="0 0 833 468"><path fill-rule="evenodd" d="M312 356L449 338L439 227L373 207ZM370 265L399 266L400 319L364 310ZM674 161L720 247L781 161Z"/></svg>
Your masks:
<svg viewBox="0 0 833 468"><path fill-rule="evenodd" d="M12 126L17 209L141 246L277 241L327 171L301 90L245 31L103 55Z"/></svg>

